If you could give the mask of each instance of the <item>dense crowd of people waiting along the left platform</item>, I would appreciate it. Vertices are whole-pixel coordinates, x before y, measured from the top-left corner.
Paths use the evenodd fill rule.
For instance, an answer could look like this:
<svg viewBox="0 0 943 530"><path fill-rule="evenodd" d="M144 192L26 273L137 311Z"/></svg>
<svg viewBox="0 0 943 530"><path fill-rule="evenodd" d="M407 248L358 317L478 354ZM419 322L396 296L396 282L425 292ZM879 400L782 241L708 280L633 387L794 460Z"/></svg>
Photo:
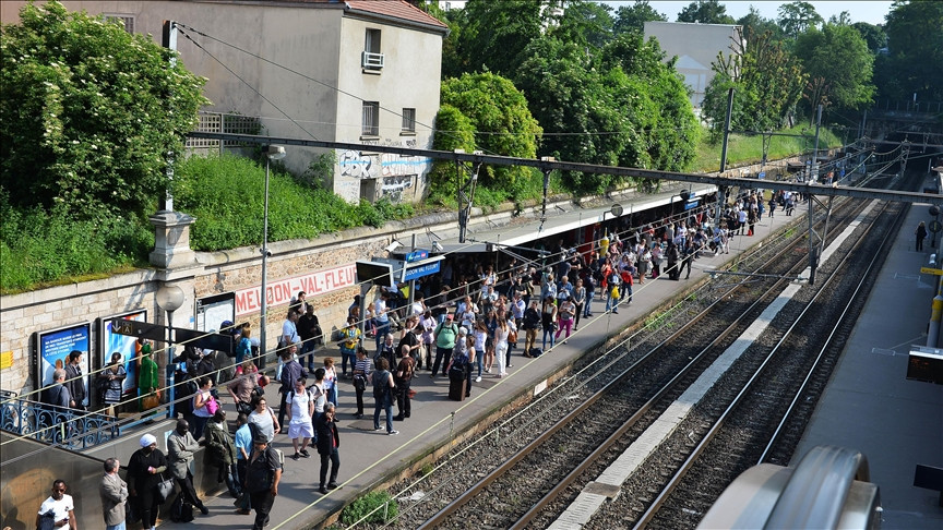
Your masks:
<svg viewBox="0 0 943 530"><path fill-rule="evenodd" d="M777 207L791 215L796 198L774 194L768 201L769 216ZM180 492L175 505L207 514L190 471L193 454L205 445L204 461L214 468L216 481L225 482L237 497L237 513L254 510L253 528L261 529L278 494L284 466L282 451L273 447L277 434L290 439L293 460L310 458L309 448L317 450L318 492L326 494L337 487L338 385L343 381L349 381L354 389L354 419L363 418L365 393L370 388L373 429L395 435L395 422L411 415L411 383L423 371L433 380L447 377L450 398L464 399L484 378L506 376L515 351L524 358L552 351L594 311L618 313L620 306L631 304L635 285L663 276L679 280L682 274L687 279L694 260L729 253L729 238L751 236L753 225L763 218L764 203L760 194L745 193L725 208L716 227L687 216L657 227L646 225L611 236L604 232L585 251L561 242L552 252L538 252L537 261L449 258L441 273L416 281L411 298L406 285L378 288L369 302L355 297L346 322L330 338L301 292L283 322L274 377L264 373L264 356L253 350L251 327L228 323L235 344L230 366L220 369L191 347L175 359L180 366L178 381L183 382L178 390L182 399L177 403L181 419L168 437L167 455L157 449L154 436L144 435L141 448L130 457L127 484L117 473L118 461L105 462L102 498L107 528L124 528L123 510L118 506L126 502L134 506L130 510L133 521L153 528L158 506L168 502L157 487L167 480L166 474ZM329 357L317 362L314 353L323 353L325 349L318 347L324 344L335 345L339 366L330 347ZM142 358L150 359L150 350ZM70 358L69 370L74 372L80 360ZM106 405L121 399L121 381L127 374L120 361L119 354L97 376ZM57 370L55 386L61 389L50 390L48 398L63 407L74 407L83 397L65 383L69 373ZM268 406L265 395L265 387L275 380L279 384L277 410ZM234 432L217 383L236 406ZM156 390L156 384L145 387L143 396ZM62 495L64 484L59 482L44 508L61 517L59 521L74 520L70 504L63 501L68 497Z"/></svg>

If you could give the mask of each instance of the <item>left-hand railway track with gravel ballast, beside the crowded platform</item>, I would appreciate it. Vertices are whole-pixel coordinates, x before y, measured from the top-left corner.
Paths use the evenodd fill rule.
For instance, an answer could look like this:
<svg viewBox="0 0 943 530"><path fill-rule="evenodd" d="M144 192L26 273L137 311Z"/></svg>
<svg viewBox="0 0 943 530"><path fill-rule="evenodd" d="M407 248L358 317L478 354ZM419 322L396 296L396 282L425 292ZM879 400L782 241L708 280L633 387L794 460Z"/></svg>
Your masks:
<svg viewBox="0 0 943 530"><path fill-rule="evenodd" d="M836 206L831 219L822 216L817 224L820 227L826 222L847 224L860 209L860 203L846 202ZM827 239L836 232L829 232ZM497 423L480 439L453 450L435 472L398 484L393 493L399 495L401 516L386 526L551 526L593 477L656 425L671 403L688 392L724 351L742 340L739 337L788 284L788 279L781 277L796 276L803 268L808 256L797 252L802 246L801 230L785 231L738 264L739 272L755 272L765 275L765 279L725 289L708 287L669 308L654 318L657 321L655 329L643 329L630 337L632 348L623 346L584 361L575 366L571 377L545 392L532 406ZM726 387L726 381L720 386ZM784 424L784 432L795 430ZM703 437L711 427L700 421L682 424L676 431L680 438L676 443L690 449L697 446L695 439ZM785 448L788 445L788 439L784 438L781 447L773 453L778 451L781 459L789 453ZM663 496L653 484L666 482L685 463L685 457L679 454L663 453L664 449L656 449L652 458L667 463L646 463L645 468L664 475L664 480L633 478L621 491L609 491L607 495L613 499L605 507L607 515L602 520L606 522L599 523L600 527L612 528L613 521L620 528L644 525L653 519L652 516L643 518L643 513L656 506L656 497ZM452 472L444 473L446 469ZM683 473L680 477L683 478ZM729 481L716 482L723 482L723 491ZM709 507L720 491L704 495L695 487L695 493L689 495L701 497L701 508L682 505L675 509L682 514L690 511L681 526L692 526L692 520L700 519L703 506ZM670 495L664 497L665 501L657 501L659 506L664 506ZM594 525L590 527L596 528ZM655 525L672 527L676 522Z"/></svg>

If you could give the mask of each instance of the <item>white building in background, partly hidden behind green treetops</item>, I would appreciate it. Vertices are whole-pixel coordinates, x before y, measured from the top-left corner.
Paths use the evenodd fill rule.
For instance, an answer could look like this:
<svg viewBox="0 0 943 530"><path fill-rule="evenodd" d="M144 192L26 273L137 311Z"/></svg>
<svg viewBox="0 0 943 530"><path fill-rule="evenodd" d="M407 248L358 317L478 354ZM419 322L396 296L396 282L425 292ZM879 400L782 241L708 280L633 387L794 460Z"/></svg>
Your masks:
<svg viewBox="0 0 943 530"><path fill-rule="evenodd" d="M725 60L739 55L747 47L741 26L732 24L692 24L688 22L646 22L645 39L655 37L665 50L666 60L678 57L675 63L684 84L691 89L691 104L700 112L707 84L714 79L711 63L717 55Z"/></svg>

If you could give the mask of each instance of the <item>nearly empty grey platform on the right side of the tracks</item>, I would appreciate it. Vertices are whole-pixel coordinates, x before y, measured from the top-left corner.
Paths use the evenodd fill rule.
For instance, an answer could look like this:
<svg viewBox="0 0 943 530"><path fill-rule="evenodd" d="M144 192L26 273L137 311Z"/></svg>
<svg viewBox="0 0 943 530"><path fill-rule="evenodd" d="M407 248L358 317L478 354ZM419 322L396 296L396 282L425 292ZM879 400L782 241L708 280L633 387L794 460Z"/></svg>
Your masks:
<svg viewBox="0 0 943 530"><path fill-rule="evenodd" d="M890 529L943 528L940 493L914 486L918 463L943 467L943 386L905 377L910 346L927 346L939 280L920 274L939 248L928 239L917 252L914 237L929 207L910 208L791 462L819 445L861 451Z"/></svg>

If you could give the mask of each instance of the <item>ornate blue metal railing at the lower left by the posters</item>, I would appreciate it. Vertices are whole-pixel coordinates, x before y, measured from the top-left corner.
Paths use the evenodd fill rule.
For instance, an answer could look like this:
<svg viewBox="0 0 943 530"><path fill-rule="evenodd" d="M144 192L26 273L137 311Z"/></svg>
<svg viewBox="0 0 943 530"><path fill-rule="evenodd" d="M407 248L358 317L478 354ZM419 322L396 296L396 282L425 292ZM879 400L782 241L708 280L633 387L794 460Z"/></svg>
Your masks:
<svg viewBox="0 0 943 530"><path fill-rule="evenodd" d="M73 450L121 435L117 418L31 401L9 390L0 390L0 429Z"/></svg>

